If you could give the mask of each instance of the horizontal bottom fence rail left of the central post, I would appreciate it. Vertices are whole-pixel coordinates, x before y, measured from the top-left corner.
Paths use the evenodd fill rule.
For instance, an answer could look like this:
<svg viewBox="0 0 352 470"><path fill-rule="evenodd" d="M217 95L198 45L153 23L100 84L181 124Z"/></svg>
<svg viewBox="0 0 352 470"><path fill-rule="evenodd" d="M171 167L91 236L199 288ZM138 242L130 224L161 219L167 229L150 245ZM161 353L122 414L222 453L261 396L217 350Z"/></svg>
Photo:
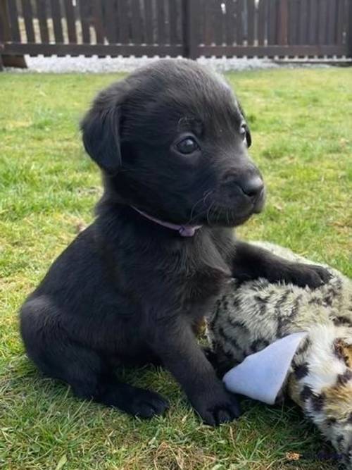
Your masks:
<svg viewBox="0 0 352 470"><path fill-rule="evenodd" d="M193 1L193 0L192 0ZM84 56L180 56L183 52L183 46L142 46L132 44L12 44L7 43L2 54L18 55L29 54L37 56L39 54L57 54L58 56L66 54L84 55Z"/></svg>

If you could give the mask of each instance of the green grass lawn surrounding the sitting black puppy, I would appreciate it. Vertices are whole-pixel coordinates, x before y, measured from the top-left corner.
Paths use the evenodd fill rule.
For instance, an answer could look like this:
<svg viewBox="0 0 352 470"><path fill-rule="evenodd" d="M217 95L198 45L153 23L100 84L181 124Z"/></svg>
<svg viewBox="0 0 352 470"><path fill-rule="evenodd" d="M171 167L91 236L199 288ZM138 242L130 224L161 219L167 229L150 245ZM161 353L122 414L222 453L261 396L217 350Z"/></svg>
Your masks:
<svg viewBox="0 0 352 470"><path fill-rule="evenodd" d="M168 373L126 371L170 398L151 421L76 400L37 373L18 307L92 220L99 171L78 122L116 75L0 74L0 467L4 470L336 469L331 448L292 404L245 400L231 425L203 426ZM239 230L352 276L352 73L348 68L231 73L268 185L264 214ZM289 462L288 452L301 459Z"/></svg>

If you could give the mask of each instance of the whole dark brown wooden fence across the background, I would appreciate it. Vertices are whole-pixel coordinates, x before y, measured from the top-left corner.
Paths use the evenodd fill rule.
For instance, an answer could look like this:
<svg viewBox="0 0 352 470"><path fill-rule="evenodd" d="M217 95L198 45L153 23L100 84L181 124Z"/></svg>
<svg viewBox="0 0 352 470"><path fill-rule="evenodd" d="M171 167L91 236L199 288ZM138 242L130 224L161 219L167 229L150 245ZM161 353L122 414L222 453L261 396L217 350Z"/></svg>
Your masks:
<svg viewBox="0 0 352 470"><path fill-rule="evenodd" d="M352 0L0 0L0 54L352 56Z"/></svg>

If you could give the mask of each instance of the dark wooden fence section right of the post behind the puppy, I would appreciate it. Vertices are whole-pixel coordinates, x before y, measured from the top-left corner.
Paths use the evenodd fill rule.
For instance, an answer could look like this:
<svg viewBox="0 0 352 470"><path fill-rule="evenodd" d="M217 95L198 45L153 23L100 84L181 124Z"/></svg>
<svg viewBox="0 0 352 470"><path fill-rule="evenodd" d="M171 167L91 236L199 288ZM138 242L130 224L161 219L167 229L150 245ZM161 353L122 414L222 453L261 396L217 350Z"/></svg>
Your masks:
<svg viewBox="0 0 352 470"><path fill-rule="evenodd" d="M206 1L204 15L207 27L203 41L196 47L197 55L351 56L348 30L352 29L352 24L351 20L344 22L344 18L348 17L348 5L352 9L351 4L351 0ZM212 36L214 27L209 18L215 18L218 14L214 14L214 8L218 11L222 9L222 14L226 16L226 42L221 46Z"/></svg>

